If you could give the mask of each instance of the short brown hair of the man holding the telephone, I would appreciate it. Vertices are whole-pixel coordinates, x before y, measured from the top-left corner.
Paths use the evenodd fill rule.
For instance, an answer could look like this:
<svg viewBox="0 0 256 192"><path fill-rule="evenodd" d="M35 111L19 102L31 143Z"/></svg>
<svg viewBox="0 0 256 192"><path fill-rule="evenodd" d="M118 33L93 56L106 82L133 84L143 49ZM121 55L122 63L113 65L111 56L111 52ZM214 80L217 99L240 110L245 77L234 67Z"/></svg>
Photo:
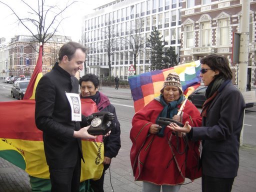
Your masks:
<svg viewBox="0 0 256 192"><path fill-rule="evenodd" d="M78 42L69 41L63 44L58 52L58 60L62 60L64 55L67 56L68 60L71 60L77 48L80 48L84 53L87 52L87 48Z"/></svg>

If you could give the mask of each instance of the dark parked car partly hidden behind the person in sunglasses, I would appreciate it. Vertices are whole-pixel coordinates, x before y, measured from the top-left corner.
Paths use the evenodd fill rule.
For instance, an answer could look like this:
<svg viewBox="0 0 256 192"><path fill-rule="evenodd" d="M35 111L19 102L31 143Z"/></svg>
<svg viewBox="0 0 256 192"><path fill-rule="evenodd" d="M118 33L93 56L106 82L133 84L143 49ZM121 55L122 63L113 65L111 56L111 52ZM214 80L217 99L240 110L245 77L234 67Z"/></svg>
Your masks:
<svg viewBox="0 0 256 192"><path fill-rule="evenodd" d="M197 107L202 107L204 101L206 100L205 97L205 90L207 86L199 86L197 87L189 96L188 99L191 100L191 102L197 106ZM254 103L249 102L245 103L245 108L253 107Z"/></svg>

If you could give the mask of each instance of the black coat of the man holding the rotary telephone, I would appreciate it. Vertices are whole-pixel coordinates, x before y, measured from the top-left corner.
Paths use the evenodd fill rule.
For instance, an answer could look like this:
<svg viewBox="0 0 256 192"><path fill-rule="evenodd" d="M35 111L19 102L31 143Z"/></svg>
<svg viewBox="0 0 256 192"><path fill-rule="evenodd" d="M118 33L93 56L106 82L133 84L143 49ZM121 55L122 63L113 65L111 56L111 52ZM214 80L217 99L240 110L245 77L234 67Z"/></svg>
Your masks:
<svg viewBox="0 0 256 192"><path fill-rule="evenodd" d="M78 80L58 64L43 75L35 92L35 123L43 131L47 164L54 168L73 167L82 157L81 140L73 138L74 130L87 125L71 121L71 108L65 92L78 93Z"/></svg>

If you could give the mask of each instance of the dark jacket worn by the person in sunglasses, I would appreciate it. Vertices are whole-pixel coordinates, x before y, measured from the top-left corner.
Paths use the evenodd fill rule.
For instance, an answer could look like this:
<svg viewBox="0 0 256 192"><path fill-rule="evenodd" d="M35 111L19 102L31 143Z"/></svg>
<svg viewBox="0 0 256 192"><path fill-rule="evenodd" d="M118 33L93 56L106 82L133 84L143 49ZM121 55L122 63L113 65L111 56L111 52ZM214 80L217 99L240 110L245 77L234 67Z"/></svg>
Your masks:
<svg viewBox="0 0 256 192"><path fill-rule="evenodd" d="M203 126L192 128L191 139L202 139L203 174L220 178L237 175L244 106L241 92L229 82L211 102Z"/></svg>

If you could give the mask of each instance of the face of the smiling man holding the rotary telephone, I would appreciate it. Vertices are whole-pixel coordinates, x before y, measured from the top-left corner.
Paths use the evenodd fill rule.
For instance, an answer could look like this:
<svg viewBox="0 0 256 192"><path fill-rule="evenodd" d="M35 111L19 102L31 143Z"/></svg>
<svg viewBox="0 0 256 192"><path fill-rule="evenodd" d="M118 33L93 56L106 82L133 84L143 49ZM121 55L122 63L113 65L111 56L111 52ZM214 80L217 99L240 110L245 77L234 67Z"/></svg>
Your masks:
<svg viewBox="0 0 256 192"><path fill-rule="evenodd" d="M78 70L83 69L83 63L85 61L85 53L77 48L71 60L65 55L61 60L60 66L66 70L71 76L74 76Z"/></svg>

